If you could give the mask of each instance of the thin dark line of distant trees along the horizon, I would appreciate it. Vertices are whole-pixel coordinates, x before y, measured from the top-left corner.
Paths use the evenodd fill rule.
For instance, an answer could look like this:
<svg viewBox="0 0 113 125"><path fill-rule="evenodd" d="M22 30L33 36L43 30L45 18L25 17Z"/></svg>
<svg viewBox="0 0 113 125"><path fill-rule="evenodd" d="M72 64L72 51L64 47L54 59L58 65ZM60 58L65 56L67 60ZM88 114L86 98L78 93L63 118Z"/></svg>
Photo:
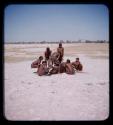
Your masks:
<svg viewBox="0 0 113 125"><path fill-rule="evenodd" d="M90 40L85 40L85 41L70 41L70 40L60 40L60 41L30 41L30 42L24 42L24 41L18 41L18 42L7 42L6 44L56 44L56 43L108 43L109 41L106 40L97 40L97 41L90 41Z"/></svg>

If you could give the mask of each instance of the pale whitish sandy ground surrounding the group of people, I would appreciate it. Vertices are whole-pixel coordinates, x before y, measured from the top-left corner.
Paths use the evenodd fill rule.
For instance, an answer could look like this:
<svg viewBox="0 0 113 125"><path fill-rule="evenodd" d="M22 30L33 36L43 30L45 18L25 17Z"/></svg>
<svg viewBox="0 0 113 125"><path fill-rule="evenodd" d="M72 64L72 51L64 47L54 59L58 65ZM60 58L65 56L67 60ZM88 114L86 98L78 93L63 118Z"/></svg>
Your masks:
<svg viewBox="0 0 113 125"><path fill-rule="evenodd" d="M38 76L30 65L57 44L4 45L4 114L8 120L105 120L109 116L108 44L65 44L64 61L83 72Z"/></svg>

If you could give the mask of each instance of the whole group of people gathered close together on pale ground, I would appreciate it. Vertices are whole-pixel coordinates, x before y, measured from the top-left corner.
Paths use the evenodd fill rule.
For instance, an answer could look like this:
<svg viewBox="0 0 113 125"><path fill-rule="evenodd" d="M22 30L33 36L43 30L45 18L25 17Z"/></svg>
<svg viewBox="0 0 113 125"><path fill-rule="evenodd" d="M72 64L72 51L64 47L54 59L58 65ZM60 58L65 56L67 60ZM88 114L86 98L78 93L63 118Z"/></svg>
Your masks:
<svg viewBox="0 0 113 125"><path fill-rule="evenodd" d="M58 73L67 73L74 74L75 71L82 71L83 66L79 61L79 58L76 58L74 62L71 62L70 59L67 59L66 62L63 62L64 57L64 47L62 43L59 43L59 47L56 52L50 50L49 47L46 48L44 56L40 56L31 64L31 68L37 68L37 74L42 75L52 75Z"/></svg>

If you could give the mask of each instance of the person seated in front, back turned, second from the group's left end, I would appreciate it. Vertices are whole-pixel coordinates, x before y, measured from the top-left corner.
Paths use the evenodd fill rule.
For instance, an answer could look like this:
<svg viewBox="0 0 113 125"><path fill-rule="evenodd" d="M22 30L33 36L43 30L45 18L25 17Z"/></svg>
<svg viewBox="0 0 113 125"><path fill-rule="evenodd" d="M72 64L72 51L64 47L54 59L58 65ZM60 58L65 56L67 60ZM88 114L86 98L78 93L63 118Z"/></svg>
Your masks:
<svg viewBox="0 0 113 125"><path fill-rule="evenodd" d="M37 73L39 76L48 74L49 69L47 68L47 62L43 61L42 64L39 66Z"/></svg>

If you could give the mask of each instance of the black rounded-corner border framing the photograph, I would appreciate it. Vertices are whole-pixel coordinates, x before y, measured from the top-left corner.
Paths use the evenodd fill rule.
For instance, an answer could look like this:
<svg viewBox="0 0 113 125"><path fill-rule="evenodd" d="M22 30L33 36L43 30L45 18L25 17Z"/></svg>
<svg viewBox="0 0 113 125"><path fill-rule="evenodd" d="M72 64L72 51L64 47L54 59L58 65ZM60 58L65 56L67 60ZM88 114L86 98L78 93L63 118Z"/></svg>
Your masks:
<svg viewBox="0 0 113 125"><path fill-rule="evenodd" d="M13 3L11 3L11 4L13 4ZM26 4L26 3L16 3L16 4ZM40 3L29 3L29 5L30 4L40 4ZM41 4L43 4L43 2L41 3ZM49 3L49 2L47 2L46 4L51 4L51 3ZM53 4L53 3L52 3ZM54 3L54 4L57 4L57 3ZM58 4L60 4L60 3L58 3ZM67 2L66 4L71 4L71 3L69 3L69 2ZM74 4L79 4L79 2L77 2L77 3L74 3ZM81 4L81 3L80 3ZM87 4L87 3L82 3L82 4ZM88 3L89 4L89 3ZM93 4L92 2L90 3L90 4ZM105 4L107 7L108 7L108 9L109 9L109 63L111 63L112 62L112 60L111 60L111 5L110 5L110 3L105 3L105 2L103 2L103 3L98 3L98 2L94 2L94 4ZM21 121L21 120L17 120L17 121L10 121L10 120L7 120L7 118L5 117L5 114L4 114L4 10L5 10L5 8L6 8L6 6L8 6L8 5L10 5L9 3L8 4L4 4L3 5L3 7L2 7L2 44L1 44L1 50L2 50L2 58L1 58L1 60L2 60L2 65L1 65L1 71L2 71L2 86L0 87L1 88L1 90L0 90L0 92L1 92L1 97L0 97L0 120L3 122L3 123L17 123L17 122L20 122L20 123L25 123L25 122L29 122L29 123L36 123L36 122L40 122L40 123L43 123L43 122L48 122L48 123L51 123L51 121L46 121L46 120L42 120L42 121L27 121L27 120L25 120L25 121ZM111 63L112 64L112 63ZM88 121L88 120L86 120L86 121L71 121L71 122L75 122L75 123L86 123L86 124L109 124L111 121L112 121L112 119L111 119L111 78L112 78L112 76L111 76L111 69L112 69L112 66L111 66L111 64L109 64L109 74L110 74L110 79L109 79L109 81L110 81L110 83L109 83L109 117L107 118L107 119L105 119L105 120L100 120L100 121L98 121L98 120L92 120L92 121ZM63 120L61 120L61 121L63 121ZM52 122L58 122L58 121L52 121ZM70 121L63 121L63 122L70 122Z"/></svg>

